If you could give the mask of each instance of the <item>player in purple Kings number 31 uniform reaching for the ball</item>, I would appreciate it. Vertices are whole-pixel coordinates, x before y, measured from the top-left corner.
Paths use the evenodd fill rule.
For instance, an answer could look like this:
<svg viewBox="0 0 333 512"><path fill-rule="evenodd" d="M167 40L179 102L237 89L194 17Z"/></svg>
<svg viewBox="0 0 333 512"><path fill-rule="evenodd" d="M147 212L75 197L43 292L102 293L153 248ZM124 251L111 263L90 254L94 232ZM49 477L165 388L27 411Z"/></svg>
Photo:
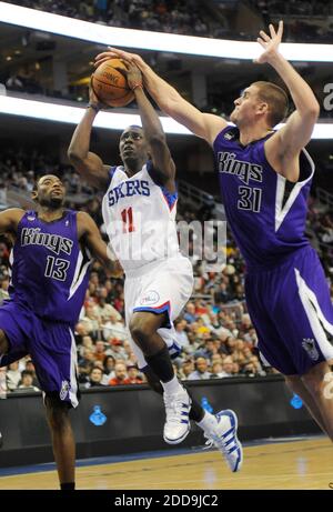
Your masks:
<svg viewBox="0 0 333 512"><path fill-rule="evenodd" d="M319 117L319 103L307 83L279 52L283 22L270 36L260 32L269 63L280 74L295 111L287 112L285 92L255 82L234 101L229 126L202 113L162 80L141 57L110 48L110 58L135 63L161 110L205 139L214 150L226 219L246 261L245 292L260 352L285 375L287 385L333 440L333 401L325 392L333 347L333 309L325 275L304 237L306 199L314 164L304 145ZM289 195L286 194L289 190ZM326 379L326 380L325 380Z"/></svg>

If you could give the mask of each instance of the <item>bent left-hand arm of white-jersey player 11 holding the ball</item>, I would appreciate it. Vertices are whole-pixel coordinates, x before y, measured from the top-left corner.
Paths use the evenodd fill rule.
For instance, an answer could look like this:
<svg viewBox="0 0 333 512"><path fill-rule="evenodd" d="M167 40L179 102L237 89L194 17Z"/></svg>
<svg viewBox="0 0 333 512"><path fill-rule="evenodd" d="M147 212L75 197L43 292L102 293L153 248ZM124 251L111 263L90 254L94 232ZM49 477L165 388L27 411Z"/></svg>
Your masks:
<svg viewBox="0 0 333 512"><path fill-rule="evenodd" d="M100 157L89 151L91 129L101 108L90 88L90 106L78 124L68 149L68 158L75 171L92 187L105 189L109 182L110 165L104 165Z"/></svg>

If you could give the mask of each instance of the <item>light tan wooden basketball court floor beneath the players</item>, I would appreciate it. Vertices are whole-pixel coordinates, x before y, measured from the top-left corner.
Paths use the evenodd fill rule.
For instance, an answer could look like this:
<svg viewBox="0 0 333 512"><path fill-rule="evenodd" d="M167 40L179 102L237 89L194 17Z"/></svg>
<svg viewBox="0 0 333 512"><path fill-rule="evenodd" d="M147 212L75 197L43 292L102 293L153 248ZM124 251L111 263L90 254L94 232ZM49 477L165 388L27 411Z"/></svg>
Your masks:
<svg viewBox="0 0 333 512"><path fill-rule="evenodd" d="M58 489L54 464L0 469L0 490ZM231 473L215 450L168 450L78 461L78 490L330 490L333 446L324 436L263 440L244 446Z"/></svg>

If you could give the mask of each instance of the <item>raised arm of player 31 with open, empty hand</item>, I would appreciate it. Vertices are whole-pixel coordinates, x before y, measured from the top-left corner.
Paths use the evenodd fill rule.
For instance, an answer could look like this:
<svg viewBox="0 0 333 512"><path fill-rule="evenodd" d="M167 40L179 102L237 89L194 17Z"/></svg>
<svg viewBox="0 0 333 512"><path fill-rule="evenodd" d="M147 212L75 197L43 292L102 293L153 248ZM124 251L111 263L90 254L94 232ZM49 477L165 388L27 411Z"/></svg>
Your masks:
<svg viewBox="0 0 333 512"><path fill-rule="evenodd" d="M256 59L258 63L268 62L280 74L293 99L295 111L290 116L285 126L271 137L265 143L269 160L280 161L282 174L291 180L299 179L299 154L307 144L314 124L320 113L320 106L310 86L279 52L283 33L283 22L280 21L278 32L270 24L270 36L260 31L258 42L264 52Z"/></svg>

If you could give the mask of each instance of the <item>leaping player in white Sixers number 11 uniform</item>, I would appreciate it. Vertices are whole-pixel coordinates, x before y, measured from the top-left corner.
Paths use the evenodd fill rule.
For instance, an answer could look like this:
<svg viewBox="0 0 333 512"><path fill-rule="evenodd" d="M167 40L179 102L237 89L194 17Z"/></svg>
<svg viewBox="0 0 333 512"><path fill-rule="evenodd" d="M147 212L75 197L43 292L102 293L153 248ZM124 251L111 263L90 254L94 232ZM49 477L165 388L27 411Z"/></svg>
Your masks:
<svg viewBox="0 0 333 512"><path fill-rule="evenodd" d="M242 464L233 411L216 416L204 411L178 381L170 354L179 353L172 338L173 320L192 293L190 261L179 250L175 228L175 165L165 134L142 87L140 70L129 64L142 128L129 127L120 137L123 167L104 165L89 151L93 120L102 107L93 91L68 151L77 171L105 191L103 218L112 248L125 272L125 320L139 368L151 388L163 393L164 441L180 443L194 420L226 458L232 471Z"/></svg>

